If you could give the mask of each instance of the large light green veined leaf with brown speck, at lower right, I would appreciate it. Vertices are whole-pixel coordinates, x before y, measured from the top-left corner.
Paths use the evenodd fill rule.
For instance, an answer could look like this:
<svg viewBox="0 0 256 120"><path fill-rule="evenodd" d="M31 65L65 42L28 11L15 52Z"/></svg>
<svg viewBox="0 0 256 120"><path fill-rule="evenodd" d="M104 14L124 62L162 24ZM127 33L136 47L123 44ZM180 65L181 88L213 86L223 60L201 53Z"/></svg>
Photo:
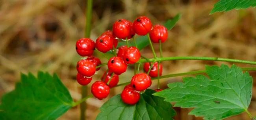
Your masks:
<svg viewBox="0 0 256 120"><path fill-rule="evenodd" d="M210 77L197 75L182 82L168 84L170 89L153 95L176 102L176 107L195 107L189 114L204 116L205 120L222 120L247 111L252 98L252 77L232 65L206 66Z"/></svg>

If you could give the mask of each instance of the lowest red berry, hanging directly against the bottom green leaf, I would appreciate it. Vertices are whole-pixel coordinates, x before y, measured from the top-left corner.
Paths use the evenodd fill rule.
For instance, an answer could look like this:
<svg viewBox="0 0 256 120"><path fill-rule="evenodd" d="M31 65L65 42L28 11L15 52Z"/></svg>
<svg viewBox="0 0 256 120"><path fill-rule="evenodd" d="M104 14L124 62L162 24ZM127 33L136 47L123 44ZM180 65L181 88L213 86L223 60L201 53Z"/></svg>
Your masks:
<svg viewBox="0 0 256 120"><path fill-rule="evenodd" d="M128 105L134 105L139 101L140 94L130 85L126 85L121 93L122 101Z"/></svg>

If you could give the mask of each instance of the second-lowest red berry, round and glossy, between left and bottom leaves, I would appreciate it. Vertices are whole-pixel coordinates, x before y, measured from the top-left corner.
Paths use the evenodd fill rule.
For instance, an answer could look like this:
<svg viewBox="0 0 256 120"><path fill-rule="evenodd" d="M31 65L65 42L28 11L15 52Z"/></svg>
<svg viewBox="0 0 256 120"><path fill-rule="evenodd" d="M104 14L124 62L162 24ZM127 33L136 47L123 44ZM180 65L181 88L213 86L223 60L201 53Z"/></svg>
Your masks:
<svg viewBox="0 0 256 120"><path fill-rule="evenodd" d="M98 98L99 100L107 98L109 94L109 90L110 89L108 85L103 81L96 81L91 86L91 93L93 94L93 96L95 96L95 98Z"/></svg>

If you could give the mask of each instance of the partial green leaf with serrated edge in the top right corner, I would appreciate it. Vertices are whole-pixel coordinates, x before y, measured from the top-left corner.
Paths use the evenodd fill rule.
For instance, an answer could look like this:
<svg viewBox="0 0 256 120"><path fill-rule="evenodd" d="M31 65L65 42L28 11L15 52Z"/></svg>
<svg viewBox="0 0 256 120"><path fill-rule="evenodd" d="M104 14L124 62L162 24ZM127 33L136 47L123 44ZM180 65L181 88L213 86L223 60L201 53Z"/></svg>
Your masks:
<svg viewBox="0 0 256 120"><path fill-rule="evenodd" d="M255 7L256 0L219 0L216 4L214 4L211 13L215 12L223 12L230 11L232 9L245 9L248 7Z"/></svg>

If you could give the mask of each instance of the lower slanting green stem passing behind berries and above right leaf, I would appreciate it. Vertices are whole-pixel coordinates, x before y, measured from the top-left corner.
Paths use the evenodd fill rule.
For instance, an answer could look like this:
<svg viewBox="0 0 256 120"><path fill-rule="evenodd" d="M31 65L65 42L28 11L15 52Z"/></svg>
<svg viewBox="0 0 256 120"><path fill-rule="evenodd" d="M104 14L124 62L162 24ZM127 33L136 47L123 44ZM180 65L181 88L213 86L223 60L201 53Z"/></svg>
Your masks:
<svg viewBox="0 0 256 120"><path fill-rule="evenodd" d="M243 71L256 71L256 68L241 68ZM201 74L201 73L205 73L206 70L197 70L197 71L192 71L192 72L183 72L183 73L178 73L178 74L169 74L169 75L165 75L165 76L160 76L159 78L162 79L162 78L172 78L172 77L177 77L177 76L185 76L185 75L194 75L194 74ZM156 78L151 78L151 80L155 80L155 79L158 79L158 77ZM121 83L119 85L116 85L115 87L119 87L119 86L122 86L122 85L128 85L130 83L129 82L126 82L126 83Z"/></svg>

